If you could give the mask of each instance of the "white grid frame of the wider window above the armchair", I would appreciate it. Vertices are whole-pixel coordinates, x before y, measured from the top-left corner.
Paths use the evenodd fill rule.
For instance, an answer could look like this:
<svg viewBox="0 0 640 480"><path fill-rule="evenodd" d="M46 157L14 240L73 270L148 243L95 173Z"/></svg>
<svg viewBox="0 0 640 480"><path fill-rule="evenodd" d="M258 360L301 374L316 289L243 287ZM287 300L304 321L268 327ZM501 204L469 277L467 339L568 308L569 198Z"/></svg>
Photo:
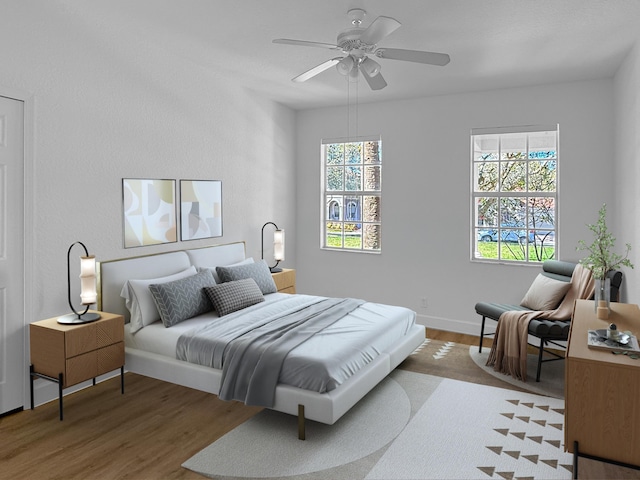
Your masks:
<svg viewBox="0 0 640 480"><path fill-rule="evenodd" d="M553 143L555 155L545 157L540 156L544 149L539 147L532 147L530 144L531 138L535 138L536 134L540 134L540 138L543 135L553 136ZM508 144L509 141L517 139L519 136L525 137L526 148L524 150L524 156L516 156L514 158L508 157L508 154L517 150L510 150L509 148L503 148L503 144ZM558 226L559 226L559 204L558 193L560 185L560 148L559 148L559 136L560 129L558 124L554 125L527 125L527 126L513 126L513 127L495 127L495 128L474 128L471 129L470 134L470 163L471 163L471 212L470 212L470 259L472 262L484 262L484 263L498 263L498 264L524 264L524 265L540 265L544 260L558 258ZM484 139L479 137L485 137ZM495 157L486 160L479 160L476 158L476 154L479 152L490 152L491 148L476 148L478 142L481 140L493 140L494 137L496 143ZM505 152L507 157L505 158ZM544 152L547 153L547 152ZM549 167L545 165L545 168L553 169L553 189L533 189L532 182L535 182L535 178L532 179L531 171L532 165L535 167L535 163L544 164L546 161L552 162L553 166ZM523 163L524 175L522 172L516 174L512 178L509 178L507 174L502 170L505 165L511 166L513 164ZM478 178L481 171L481 165L495 164L495 182L496 186L494 190L480 190L478 187ZM543 178L543 174L540 175ZM545 177L546 179L546 177ZM505 180L513 181L513 186L503 189L506 182ZM520 188L516 185L517 181L523 181L524 187ZM504 182L504 183L503 183ZM538 185L544 187L544 185ZM478 205L482 199L491 200L495 198L494 221L489 225L485 225L481 218L479 218ZM510 217L510 212L506 206L513 202L517 202L518 199L523 199L521 205L518 208L519 215ZM547 216L552 217L552 221L548 222L544 227L536 227L535 222L539 220L536 217L535 211L540 211L542 208L540 205L545 205L544 209L548 208L548 205L552 205L550 212L547 212ZM503 210L503 206L505 209ZM493 223L493 224L492 224ZM540 235L538 232L542 231ZM545 233L546 232L546 233ZM481 239L483 237L491 239L492 243L496 244L496 257L483 257L480 253ZM503 241L504 239L504 241ZM533 240L532 240L533 239ZM547 239L553 239L553 242ZM545 243L546 242L546 243ZM506 254L503 257L503 252ZM549 256L550 252L552 255ZM510 256L516 257L509 258ZM522 258L517 258L521 255Z"/></svg>

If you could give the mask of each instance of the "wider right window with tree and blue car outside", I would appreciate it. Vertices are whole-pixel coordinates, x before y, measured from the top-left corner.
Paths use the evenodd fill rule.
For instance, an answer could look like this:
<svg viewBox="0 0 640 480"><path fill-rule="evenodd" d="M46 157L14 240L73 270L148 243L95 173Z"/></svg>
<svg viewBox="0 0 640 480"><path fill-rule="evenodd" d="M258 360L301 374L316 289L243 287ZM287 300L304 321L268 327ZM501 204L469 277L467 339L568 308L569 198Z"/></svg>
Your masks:
<svg viewBox="0 0 640 480"><path fill-rule="evenodd" d="M557 125L474 129L471 164L472 260L555 258Z"/></svg>

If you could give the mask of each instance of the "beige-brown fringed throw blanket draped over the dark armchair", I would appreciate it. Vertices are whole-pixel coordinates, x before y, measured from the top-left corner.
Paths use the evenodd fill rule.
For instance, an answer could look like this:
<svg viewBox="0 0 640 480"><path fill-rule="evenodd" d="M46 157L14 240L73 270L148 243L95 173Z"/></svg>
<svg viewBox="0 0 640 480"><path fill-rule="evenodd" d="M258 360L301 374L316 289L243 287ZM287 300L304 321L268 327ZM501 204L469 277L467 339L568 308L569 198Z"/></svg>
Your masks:
<svg viewBox="0 0 640 480"><path fill-rule="evenodd" d="M591 298L594 283L591 270L578 264L571 276L571 286L555 310L509 311L500 315L487 366L526 382L529 322L534 318L570 319L575 300Z"/></svg>

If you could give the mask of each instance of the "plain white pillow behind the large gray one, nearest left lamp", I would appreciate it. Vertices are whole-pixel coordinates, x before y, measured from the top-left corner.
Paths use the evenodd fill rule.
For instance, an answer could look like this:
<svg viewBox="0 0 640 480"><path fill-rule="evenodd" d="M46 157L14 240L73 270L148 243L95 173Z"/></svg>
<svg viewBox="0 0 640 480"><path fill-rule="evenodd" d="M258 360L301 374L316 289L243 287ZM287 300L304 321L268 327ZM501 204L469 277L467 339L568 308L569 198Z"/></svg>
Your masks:
<svg viewBox="0 0 640 480"><path fill-rule="evenodd" d="M127 310L131 314L131 333L136 333L141 328L160 320L160 312L153 300L149 285L152 283L167 283L173 280L190 277L198 273L196 267L189 267L182 272L174 273L161 278L149 278L144 280L129 280L122 287L120 296L125 299Z"/></svg>

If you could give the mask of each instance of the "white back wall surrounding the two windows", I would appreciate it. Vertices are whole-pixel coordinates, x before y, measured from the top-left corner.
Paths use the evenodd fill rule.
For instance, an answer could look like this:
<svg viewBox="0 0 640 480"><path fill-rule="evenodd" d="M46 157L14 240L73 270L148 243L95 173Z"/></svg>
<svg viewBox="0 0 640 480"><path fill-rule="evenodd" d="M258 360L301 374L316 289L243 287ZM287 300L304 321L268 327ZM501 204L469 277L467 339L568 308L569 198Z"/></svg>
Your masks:
<svg viewBox="0 0 640 480"><path fill-rule="evenodd" d="M358 117L359 134L382 135L382 253L319 248L320 142L346 136L346 108L298 112L297 281L303 293L404 305L428 326L474 334L477 301L518 303L539 267L469 260L473 127L560 125L561 260L582 256L575 247L590 239L585 224L614 198L612 80L360 105Z"/></svg>

